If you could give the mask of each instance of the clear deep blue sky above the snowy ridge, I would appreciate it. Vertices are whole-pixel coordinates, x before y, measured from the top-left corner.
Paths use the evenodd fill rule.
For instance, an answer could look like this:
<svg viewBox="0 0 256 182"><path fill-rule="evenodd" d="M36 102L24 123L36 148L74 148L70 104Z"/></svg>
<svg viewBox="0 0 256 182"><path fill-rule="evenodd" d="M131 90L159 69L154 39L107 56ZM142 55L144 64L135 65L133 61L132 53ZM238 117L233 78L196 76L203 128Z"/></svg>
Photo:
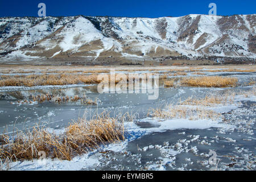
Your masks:
<svg viewBox="0 0 256 182"><path fill-rule="evenodd" d="M217 15L256 14L255 0L0 0L0 16L38 16L38 4L46 3L47 16L127 16L157 18L208 14L211 2Z"/></svg>

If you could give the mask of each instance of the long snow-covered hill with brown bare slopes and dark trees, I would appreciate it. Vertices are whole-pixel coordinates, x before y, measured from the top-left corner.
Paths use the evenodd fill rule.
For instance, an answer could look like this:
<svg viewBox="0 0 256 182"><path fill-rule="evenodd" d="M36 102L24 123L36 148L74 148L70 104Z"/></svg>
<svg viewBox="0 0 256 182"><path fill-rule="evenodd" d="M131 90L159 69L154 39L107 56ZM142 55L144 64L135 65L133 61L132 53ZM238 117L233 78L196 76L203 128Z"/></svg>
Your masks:
<svg viewBox="0 0 256 182"><path fill-rule="evenodd" d="M0 60L256 58L256 15L0 18Z"/></svg>

